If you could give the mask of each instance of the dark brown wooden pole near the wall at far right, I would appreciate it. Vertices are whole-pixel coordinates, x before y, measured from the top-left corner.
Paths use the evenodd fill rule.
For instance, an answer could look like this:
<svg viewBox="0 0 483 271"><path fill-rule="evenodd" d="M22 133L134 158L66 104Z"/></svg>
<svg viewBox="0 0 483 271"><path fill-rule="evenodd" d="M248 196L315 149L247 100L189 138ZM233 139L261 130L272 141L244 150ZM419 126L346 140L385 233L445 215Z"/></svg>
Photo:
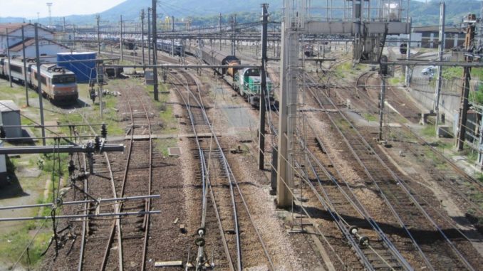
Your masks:
<svg viewBox="0 0 483 271"><path fill-rule="evenodd" d="M468 18L468 26L466 31L466 37L464 39L464 48L466 51L469 51L472 47L472 42L474 40L474 31L475 31L475 24L476 24L476 15L469 14ZM467 55L466 62L472 62L472 57ZM466 137L466 122L467 122L467 111L468 111L468 96L469 96L469 80L471 80L471 68L464 67L463 68L463 88L461 94L461 102L459 106L459 122L458 122L458 136L456 146L458 151L462 151L464 148L464 139Z"/></svg>

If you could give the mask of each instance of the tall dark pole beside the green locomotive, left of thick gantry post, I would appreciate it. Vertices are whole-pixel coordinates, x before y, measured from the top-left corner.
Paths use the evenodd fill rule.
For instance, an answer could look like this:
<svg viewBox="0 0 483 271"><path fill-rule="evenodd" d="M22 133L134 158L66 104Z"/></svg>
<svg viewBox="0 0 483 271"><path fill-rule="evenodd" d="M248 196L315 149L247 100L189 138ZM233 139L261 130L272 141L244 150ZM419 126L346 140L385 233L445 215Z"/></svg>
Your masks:
<svg viewBox="0 0 483 271"><path fill-rule="evenodd" d="M265 164L265 115L266 115L266 43L269 25L269 4L261 4L261 69L260 69L260 127L259 127L259 169ZM221 18L221 14L220 14ZM221 40L220 40L221 41ZM221 44L221 43L220 43ZM269 101L270 106L270 101Z"/></svg>

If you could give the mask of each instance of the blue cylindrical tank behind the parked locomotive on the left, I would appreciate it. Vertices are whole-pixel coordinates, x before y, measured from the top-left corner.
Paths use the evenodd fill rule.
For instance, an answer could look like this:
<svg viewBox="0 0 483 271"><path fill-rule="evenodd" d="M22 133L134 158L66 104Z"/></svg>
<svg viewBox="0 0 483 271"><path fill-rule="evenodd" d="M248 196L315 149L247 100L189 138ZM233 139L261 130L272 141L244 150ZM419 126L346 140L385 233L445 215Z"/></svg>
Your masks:
<svg viewBox="0 0 483 271"><path fill-rule="evenodd" d="M97 53L91 52L73 52L73 53L57 53L57 61L71 60L95 60ZM95 61L82 61L73 63L58 63L58 66L71 70L76 74L77 82L88 83L95 80L97 76L95 72Z"/></svg>

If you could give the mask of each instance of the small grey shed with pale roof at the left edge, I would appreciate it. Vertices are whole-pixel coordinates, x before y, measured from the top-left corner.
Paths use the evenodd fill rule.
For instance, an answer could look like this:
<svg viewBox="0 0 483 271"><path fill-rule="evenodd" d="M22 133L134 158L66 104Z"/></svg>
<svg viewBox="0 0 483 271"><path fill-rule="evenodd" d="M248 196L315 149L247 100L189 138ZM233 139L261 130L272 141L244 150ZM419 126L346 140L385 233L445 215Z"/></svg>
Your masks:
<svg viewBox="0 0 483 271"><path fill-rule="evenodd" d="M22 137L22 127L20 120L20 109L12 100L0 100L0 125L16 127L4 127L5 137L15 138Z"/></svg>

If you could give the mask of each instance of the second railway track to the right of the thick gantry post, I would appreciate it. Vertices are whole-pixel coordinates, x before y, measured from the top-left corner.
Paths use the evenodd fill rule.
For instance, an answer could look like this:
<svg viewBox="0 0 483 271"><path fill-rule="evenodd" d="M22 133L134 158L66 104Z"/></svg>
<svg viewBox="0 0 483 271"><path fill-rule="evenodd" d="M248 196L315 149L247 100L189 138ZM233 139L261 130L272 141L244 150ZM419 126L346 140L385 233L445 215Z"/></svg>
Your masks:
<svg viewBox="0 0 483 271"><path fill-rule="evenodd" d="M398 224L405 231L406 238L409 237L409 242L419 250L420 257L427 264L427 268L440 270L451 266L455 270L474 270L467 258L455 247L452 242L455 239L448 238L432 216L408 191L405 181L380 159L379 154L365 141L341 110L326 95L323 95L323 92L312 93L312 95L318 105L326 110L326 116L333 127L336 127L346 147L368 176L369 180L365 182L365 186L380 193L391 213L398 220ZM328 109L334 113L329 114ZM421 232L426 232L427 235L422 235Z"/></svg>

